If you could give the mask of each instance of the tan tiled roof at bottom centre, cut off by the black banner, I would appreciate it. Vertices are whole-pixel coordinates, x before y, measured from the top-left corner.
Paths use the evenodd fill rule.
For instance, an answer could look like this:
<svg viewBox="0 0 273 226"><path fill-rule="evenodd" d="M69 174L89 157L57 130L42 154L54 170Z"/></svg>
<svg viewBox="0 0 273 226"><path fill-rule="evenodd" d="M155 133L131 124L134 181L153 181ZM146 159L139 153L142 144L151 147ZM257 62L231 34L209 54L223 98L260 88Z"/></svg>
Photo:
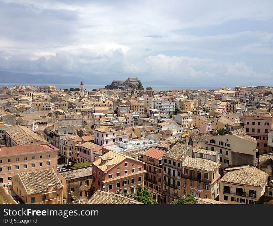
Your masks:
<svg viewBox="0 0 273 226"><path fill-rule="evenodd" d="M87 204L134 205L143 203L122 195L96 190L92 197L87 201Z"/></svg>

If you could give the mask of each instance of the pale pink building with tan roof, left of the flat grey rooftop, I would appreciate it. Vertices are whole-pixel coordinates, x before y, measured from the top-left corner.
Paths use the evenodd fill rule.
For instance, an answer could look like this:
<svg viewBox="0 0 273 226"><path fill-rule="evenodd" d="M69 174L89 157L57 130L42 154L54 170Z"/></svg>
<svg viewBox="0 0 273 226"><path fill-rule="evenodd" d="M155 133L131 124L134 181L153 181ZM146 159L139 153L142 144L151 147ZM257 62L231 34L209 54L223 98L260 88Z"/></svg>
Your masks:
<svg viewBox="0 0 273 226"><path fill-rule="evenodd" d="M108 126L94 129L94 143L101 146L113 145L116 141L127 141L128 134Z"/></svg>

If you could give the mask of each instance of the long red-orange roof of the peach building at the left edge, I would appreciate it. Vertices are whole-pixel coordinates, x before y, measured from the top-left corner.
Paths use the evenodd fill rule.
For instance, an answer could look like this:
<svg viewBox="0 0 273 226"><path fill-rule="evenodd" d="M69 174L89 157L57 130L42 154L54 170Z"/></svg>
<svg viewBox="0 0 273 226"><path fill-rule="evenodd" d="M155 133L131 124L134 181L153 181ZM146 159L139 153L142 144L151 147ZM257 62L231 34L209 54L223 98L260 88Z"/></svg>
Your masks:
<svg viewBox="0 0 273 226"><path fill-rule="evenodd" d="M15 147L1 147L0 156L11 154L26 154L39 151L51 151L58 150L56 147L50 144L31 144Z"/></svg>

